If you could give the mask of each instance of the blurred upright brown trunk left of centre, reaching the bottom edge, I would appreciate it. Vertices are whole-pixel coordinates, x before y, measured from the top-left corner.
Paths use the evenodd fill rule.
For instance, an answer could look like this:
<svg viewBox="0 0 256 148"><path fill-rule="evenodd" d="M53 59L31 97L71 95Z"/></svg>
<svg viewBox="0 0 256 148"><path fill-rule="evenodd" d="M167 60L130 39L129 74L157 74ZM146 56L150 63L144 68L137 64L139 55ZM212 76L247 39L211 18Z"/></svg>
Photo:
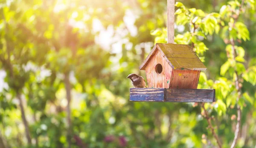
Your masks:
<svg viewBox="0 0 256 148"><path fill-rule="evenodd" d="M72 127L71 127L71 110L70 110L70 102L71 102L71 87L69 80L69 73L64 74L64 83L67 95L67 142L68 147L71 148L71 138L72 138Z"/></svg>

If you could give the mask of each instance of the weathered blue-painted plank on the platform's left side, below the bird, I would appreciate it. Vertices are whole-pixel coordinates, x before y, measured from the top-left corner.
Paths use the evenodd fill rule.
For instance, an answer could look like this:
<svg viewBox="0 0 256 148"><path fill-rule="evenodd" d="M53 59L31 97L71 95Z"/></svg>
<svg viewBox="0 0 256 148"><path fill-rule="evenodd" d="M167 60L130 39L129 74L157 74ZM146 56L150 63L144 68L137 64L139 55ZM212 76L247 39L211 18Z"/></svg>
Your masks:
<svg viewBox="0 0 256 148"><path fill-rule="evenodd" d="M130 88L130 101L164 101L164 88Z"/></svg>

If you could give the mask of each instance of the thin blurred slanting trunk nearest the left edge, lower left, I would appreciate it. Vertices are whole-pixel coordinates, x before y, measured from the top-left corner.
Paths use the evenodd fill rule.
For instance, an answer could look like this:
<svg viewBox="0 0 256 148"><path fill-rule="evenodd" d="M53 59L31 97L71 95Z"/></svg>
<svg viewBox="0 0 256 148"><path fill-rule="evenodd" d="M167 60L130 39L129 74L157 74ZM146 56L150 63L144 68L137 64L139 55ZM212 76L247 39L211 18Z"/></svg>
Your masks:
<svg viewBox="0 0 256 148"><path fill-rule="evenodd" d="M20 101L21 118L22 118L23 125L25 127L26 139L27 139L29 145L31 145L31 137L29 135L29 125L28 125L28 122L27 122L27 119L26 119L26 115L25 115L25 111L24 111L24 107L23 107L23 102L22 102L20 93L17 94L17 98Z"/></svg>

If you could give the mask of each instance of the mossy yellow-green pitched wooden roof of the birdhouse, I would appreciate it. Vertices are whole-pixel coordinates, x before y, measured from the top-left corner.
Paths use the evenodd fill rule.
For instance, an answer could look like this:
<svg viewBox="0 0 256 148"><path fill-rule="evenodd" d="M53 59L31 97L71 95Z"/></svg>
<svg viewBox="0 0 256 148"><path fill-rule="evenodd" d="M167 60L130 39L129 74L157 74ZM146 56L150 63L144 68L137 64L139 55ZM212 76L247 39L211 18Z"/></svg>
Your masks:
<svg viewBox="0 0 256 148"><path fill-rule="evenodd" d="M149 53L148 57L140 65L140 70L145 70L150 59L156 53L157 49L163 55L163 58L173 69L179 70L207 70L202 61L193 51L192 47L183 44L163 44L157 43Z"/></svg>

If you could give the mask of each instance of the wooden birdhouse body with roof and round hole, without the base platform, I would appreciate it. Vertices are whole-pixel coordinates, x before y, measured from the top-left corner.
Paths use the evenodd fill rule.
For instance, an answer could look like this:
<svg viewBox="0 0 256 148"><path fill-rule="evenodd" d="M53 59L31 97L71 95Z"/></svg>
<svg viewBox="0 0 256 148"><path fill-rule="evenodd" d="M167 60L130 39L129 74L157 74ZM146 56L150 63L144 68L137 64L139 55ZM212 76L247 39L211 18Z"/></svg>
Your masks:
<svg viewBox="0 0 256 148"><path fill-rule="evenodd" d="M207 70L192 47L157 43L140 65L148 88L196 89L201 70Z"/></svg>

